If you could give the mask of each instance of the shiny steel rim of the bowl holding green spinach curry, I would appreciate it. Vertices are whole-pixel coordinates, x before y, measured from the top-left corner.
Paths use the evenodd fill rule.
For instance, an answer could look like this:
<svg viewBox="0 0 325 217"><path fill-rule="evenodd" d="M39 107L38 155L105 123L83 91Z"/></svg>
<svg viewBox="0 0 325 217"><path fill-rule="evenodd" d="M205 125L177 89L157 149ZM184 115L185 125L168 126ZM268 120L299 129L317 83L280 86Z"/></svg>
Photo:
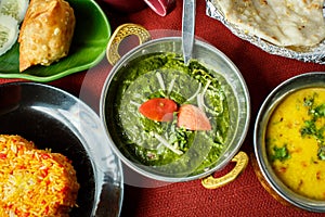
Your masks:
<svg viewBox="0 0 325 217"><path fill-rule="evenodd" d="M166 42L166 41L181 41L181 37L172 36L172 37L162 37L162 38L158 38L158 39L148 40L148 41L144 42L143 44L140 44L140 46L131 49L130 51L128 51L125 55L121 56L121 59L117 62L117 64L115 64L113 66L113 68L110 69L110 73L108 74L106 80L104 81L104 86L103 86L103 89L102 89L101 100L100 100L100 116L101 116L102 124L105 128L105 132L106 132L107 137L109 138L109 145L112 146L112 149L116 153L116 155L118 155L118 157L120 157L121 162L123 162L129 168L135 170L136 173L139 173L139 174L141 174L141 175L143 175L147 178L155 179L155 180L158 180L158 181L167 181L167 182L191 181L191 180L196 180L196 179L204 178L204 177L214 173L216 170L219 170L219 169L222 169L223 167L225 167L231 162L231 159L234 157L234 155L239 151L242 144L244 143L244 140L245 140L245 138L247 136L247 132L248 132L249 123L250 123L250 110L251 110L250 108L250 97L249 97L249 90L247 88L245 79L244 79L243 75L240 74L239 69L237 68L237 66L223 52L221 52L216 47L213 47L213 46L209 44L208 42L205 42L204 40L200 40L200 39L195 39L195 41L194 41L194 49L196 47L205 47L208 50L213 51L216 53L216 55L219 55L221 59L223 59L233 68L233 71L235 72L236 76L238 77L238 79L240 81L240 85L242 85L242 88L245 92L245 102L246 102L245 108L246 108L246 113L247 113L246 116L245 116L245 123L244 123L244 128L243 128L243 131L242 131L242 135L240 135L240 139L238 140L238 142L236 144L236 148L225 157L225 159L223 162L221 162L220 164L217 164L212 169L209 169L208 171L204 171L202 174L190 176L190 177L173 178L173 177L166 177L166 176L155 175L155 174L152 174L152 173L148 173L148 171L142 169L141 167L136 166L136 164L134 164L133 162L128 159L120 152L120 150L114 144L113 138L110 137L110 133L109 133L109 131L106 127L106 124L107 124L106 118L105 118L106 93L108 91L109 85L110 85L114 76L118 73L118 69L120 67L122 67L122 65L130 58L132 58L132 55L136 51L143 49L146 46L151 46L153 43ZM237 123L238 122L239 120L237 120Z"/></svg>

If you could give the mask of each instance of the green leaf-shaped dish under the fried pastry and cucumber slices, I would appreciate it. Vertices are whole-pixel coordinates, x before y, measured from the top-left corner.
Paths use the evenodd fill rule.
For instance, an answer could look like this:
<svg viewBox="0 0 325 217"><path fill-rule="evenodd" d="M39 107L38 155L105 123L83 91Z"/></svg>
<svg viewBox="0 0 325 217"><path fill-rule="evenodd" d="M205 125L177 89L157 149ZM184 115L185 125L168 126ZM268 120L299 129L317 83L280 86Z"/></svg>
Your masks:
<svg viewBox="0 0 325 217"><path fill-rule="evenodd" d="M110 25L94 0L67 0L76 15L69 54L50 66L31 66L20 73L20 44L0 56L0 78L23 78L47 82L88 69L105 55Z"/></svg>

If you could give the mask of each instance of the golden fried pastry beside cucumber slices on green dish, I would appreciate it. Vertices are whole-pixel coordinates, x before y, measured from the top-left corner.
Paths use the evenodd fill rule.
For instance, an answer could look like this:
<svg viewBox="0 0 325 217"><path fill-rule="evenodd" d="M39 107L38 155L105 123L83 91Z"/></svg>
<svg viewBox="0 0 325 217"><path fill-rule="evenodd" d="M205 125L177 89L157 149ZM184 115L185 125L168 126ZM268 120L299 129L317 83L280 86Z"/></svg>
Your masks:
<svg viewBox="0 0 325 217"><path fill-rule="evenodd" d="M76 17L64 0L31 0L22 24L20 72L32 65L48 66L68 54Z"/></svg>

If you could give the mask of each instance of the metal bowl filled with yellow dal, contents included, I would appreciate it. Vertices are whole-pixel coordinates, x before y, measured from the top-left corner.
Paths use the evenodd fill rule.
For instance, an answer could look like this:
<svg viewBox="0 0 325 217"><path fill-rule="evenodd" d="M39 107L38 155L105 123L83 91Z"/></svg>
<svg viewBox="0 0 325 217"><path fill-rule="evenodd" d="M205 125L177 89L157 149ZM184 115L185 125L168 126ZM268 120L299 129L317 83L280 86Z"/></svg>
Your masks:
<svg viewBox="0 0 325 217"><path fill-rule="evenodd" d="M272 195L325 212L325 73L307 73L276 87L256 120L257 174Z"/></svg>

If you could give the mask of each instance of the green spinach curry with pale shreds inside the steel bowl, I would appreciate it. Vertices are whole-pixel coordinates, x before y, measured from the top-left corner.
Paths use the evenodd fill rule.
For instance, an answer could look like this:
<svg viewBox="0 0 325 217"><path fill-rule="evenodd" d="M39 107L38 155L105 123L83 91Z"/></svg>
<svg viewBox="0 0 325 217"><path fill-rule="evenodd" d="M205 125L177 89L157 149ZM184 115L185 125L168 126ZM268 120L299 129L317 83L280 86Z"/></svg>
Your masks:
<svg viewBox="0 0 325 217"><path fill-rule="evenodd" d="M182 56L174 53L141 56L121 71L113 93L118 135L114 139L120 151L155 171L173 176L198 174L213 166L225 148L230 127L226 98L216 72L195 60L185 66ZM139 107L153 99L173 101L179 110L169 114L172 117L167 122L151 119ZM184 105L203 111L210 130L179 126ZM183 115L183 122L195 118L191 112Z"/></svg>

